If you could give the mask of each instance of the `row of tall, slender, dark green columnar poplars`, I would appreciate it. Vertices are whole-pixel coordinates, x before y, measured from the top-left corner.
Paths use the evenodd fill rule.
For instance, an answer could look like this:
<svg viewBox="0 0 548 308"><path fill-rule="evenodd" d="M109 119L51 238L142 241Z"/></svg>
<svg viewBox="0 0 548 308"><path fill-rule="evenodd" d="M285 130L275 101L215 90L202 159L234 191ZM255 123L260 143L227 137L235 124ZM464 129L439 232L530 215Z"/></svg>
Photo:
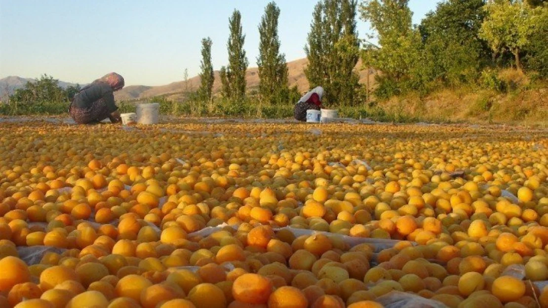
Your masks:
<svg viewBox="0 0 548 308"><path fill-rule="evenodd" d="M309 65L305 70L311 88L323 86L324 101L351 104L359 89L358 75L353 70L359 59L359 39L356 31L356 0L322 0L313 13L305 52ZM266 104L295 103L299 92L288 87L286 56L280 53L278 19L280 9L275 2L266 5L259 24L258 99ZM230 36L226 44L229 63L219 72L221 95L232 103L246 100L246 71L249 61L243 48L246 36L242 32L242 16L233 11L229 19ZM212 100L213 67L212 40L202 39L201 85L198 95ZM295 100L295 101L292 101Z"/></svg>

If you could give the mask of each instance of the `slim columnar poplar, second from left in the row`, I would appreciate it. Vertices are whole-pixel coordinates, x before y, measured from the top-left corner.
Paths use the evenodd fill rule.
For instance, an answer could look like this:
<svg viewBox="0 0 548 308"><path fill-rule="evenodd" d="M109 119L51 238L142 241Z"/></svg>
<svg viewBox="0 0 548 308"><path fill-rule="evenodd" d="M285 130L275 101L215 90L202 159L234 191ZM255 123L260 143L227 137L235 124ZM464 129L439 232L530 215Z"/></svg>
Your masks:
<svg viewBox="0 0 548 308"><path fill-rule="evenodd" d="M246 71L249 61L243 49L245 34L242 32L242 15L234 10L229 19L230 37L227 43L229 65L221 69L221 82L225 97L242 102L246 97Z"/></svg>

